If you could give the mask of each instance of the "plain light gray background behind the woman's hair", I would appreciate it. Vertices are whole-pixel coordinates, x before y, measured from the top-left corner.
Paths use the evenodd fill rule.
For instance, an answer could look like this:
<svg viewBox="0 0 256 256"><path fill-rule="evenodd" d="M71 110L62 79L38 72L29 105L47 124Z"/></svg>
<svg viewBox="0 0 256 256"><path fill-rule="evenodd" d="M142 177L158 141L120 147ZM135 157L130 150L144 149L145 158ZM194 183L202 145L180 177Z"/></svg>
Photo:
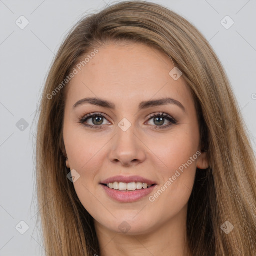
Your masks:
<svg viewBox="0 0 256 256"><path fill-rule="evenodd" d="M107 0L0 0L0 255L43 255L36 226L33 122L51 61L64 35L84 14ZM153 0L188 19L206 37L222 62L240 111L256 145L256 0ZM15 21L25 16L20 29ZM220 21L230 16L225 29ZM28 127L16 123L25 119ZM25 221L20 234L15 226ZM24 230L24 224L18 225Z"/></svg>

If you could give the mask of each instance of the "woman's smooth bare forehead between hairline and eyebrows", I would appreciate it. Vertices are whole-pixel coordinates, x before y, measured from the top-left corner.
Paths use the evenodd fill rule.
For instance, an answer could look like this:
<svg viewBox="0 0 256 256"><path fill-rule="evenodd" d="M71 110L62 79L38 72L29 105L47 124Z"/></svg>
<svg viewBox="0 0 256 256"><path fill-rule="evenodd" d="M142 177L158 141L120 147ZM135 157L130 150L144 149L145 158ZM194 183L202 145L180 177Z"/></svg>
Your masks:
<svg viewBox="0 0 256 256"><path fill-rule="evenodd" d="M75 103L93 96L124 103L124 98L141 101L166 95L191 100L182 76L174 80L169 75L174 65L163 52L142 43L110 43L97 50L96 54L85 54L82 59L87 59L80 70L76 67L78 72L68 84L67 101Z"/></svg>

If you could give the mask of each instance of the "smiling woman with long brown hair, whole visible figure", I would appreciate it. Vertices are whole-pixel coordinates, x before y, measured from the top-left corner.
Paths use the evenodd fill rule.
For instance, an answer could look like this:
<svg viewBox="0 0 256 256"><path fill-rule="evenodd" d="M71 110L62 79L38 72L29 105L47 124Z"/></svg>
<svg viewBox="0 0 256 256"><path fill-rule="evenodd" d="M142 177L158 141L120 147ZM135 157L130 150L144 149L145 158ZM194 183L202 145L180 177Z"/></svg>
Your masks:
<svg viewBox="0 0 256 256"><path fill-rule="evenodd" d="M216 54L127 1L78 22L39 109L47 255L256 254L255 156Z"/></svg>

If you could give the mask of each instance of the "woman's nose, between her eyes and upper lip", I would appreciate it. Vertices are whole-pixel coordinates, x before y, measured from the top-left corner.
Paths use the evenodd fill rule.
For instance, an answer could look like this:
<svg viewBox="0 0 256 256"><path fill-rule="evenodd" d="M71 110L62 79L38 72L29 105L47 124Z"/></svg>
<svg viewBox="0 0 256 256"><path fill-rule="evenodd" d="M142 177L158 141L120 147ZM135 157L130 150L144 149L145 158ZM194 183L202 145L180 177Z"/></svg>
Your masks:
<svg viewBox="0 0 256 256"><path fill-rule="evenodd" d="M109 160L121 166L135 166L146 159L146 146L139 138L134 125L126 131L117 126L109 150Z"/></svg>

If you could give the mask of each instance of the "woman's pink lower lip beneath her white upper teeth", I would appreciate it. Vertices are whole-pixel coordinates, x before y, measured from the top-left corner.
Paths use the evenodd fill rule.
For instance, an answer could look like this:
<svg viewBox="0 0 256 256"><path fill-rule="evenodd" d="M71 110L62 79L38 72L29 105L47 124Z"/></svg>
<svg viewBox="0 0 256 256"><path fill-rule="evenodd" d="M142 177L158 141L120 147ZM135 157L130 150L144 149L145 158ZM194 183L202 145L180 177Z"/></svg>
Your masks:
<svg viewBox="0 0 256 256"><path fill-rule="evenodd" d="M153 191L153 189L156 187L156 185L150 186L146 189L138 189L135 191L119 191L115 190L113 188L109 188L105 185L100 184L103 189L106 191L106 193L113 199L119 202L135 202L143 198L144 196L148 195Z"/></svg>

